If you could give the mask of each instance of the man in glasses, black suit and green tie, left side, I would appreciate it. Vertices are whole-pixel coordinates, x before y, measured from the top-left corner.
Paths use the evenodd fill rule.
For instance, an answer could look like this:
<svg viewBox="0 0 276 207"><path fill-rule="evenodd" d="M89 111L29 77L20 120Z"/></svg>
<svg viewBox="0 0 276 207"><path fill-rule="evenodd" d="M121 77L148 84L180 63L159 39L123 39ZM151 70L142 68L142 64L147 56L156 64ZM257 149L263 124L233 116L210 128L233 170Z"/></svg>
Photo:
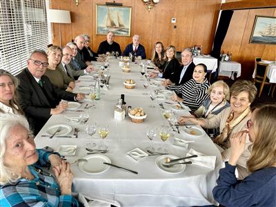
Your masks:
<svg viewBox="0 0 276 207"><path fill-rule="evenodd" d="M48 66L48 57L43 50L34 50L28 58L28 65L17 78L19 103L26 114L30 128L37 135L51 115L57 115L66 110L67 101L81 101L83 94L66 92L52 85L50 79L44 75Z"/></svg>

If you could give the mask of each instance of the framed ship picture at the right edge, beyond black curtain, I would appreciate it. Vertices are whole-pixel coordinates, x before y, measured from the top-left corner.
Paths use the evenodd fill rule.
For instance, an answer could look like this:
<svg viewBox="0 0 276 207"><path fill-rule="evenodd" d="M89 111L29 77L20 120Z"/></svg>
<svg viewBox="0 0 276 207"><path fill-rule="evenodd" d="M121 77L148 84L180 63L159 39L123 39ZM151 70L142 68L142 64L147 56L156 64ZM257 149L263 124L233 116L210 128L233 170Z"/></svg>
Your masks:
<svg viewBox="0 0 276 207"><path fill-rule="evenodd" d="M250 43L276 44L276 17L255 17Z"/></svg>

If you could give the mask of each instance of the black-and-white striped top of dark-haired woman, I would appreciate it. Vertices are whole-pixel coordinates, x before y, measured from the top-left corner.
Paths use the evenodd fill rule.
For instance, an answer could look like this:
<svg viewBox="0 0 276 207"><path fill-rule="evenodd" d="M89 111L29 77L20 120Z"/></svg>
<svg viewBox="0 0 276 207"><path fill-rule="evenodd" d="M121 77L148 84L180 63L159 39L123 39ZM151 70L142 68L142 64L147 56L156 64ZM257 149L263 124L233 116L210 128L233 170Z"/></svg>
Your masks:
<svg viewBox="0 0 276 207"><path fill-rule="evenodd" d="M207 90L209 87L210 84L207 79L203 83L197 83L194 79L190 79L190 81L180 86L168 86L168 89L174 90L177 95L181 95L184 99L184 105L195 111L204 100L208 99Z"/></svg>

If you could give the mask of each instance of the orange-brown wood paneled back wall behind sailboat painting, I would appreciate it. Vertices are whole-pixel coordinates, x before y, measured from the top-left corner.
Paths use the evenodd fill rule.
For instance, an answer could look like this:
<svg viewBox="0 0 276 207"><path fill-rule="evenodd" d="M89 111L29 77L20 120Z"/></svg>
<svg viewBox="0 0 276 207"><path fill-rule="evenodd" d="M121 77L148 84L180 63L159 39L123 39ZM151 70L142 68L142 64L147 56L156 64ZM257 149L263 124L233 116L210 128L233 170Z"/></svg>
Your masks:
<svg viewBox="0 0 276 207"><path fill-rule="evenodd" d="M51 8L70 10L72 23L61 24L62 45L74 39L77 34L86 33L92 37L92 49L97 52L106 35L96 35L96 3L105 4L107 0L79 0L79 6L73 0L52 0ZM111 1L112 2L112 1ZM220 0L161 0L150 12L141 0L120 0L124 6L132 6L130 37L115 37L115 41L124 50L132 42L132 35L141 35L141 44L146 48L149 58L156 41L164 46L170 44L177 50L199 44L203 52L209 53L213 46L213 37L217 25ZM172 17L177 23L170 23ZM59 45L59 23L53 23L53 43ZM174 29L174 26L177 26Z"/></svg>

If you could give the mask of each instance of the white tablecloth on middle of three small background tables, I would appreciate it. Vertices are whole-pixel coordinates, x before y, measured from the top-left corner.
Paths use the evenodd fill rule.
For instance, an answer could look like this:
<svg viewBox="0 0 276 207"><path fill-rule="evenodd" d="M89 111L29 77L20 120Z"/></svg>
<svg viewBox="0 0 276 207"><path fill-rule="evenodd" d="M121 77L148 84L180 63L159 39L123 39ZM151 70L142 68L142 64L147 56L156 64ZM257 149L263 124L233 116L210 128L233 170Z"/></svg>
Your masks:
<svg viewBox="0 0 276 207"><path fill-rule="evenodd" d="M220 61L219 62L219 76L227 76L234 79L234 73L237 73L237 77L241 76L242 65L235 61Z"/></svg>

